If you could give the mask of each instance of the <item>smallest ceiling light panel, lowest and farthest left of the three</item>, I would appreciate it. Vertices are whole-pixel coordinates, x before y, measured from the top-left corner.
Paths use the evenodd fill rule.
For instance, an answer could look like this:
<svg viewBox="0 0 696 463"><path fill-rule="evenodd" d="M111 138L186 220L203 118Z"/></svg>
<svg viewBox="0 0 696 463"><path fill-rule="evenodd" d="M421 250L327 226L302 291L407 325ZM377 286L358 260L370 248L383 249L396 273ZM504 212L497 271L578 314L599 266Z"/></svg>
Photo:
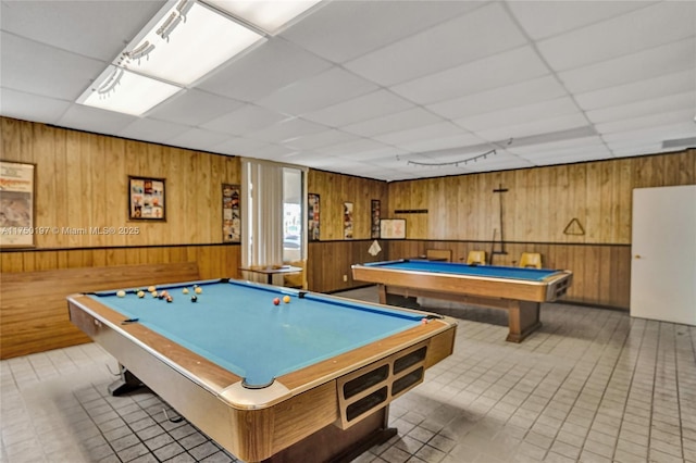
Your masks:
<svg viewBox="0 0 696 463"><path fill-rule="evenodd" d="M83 92L77 102L102 110L140 115L181 89L111 65L95 80L95 85Z"/></svg>

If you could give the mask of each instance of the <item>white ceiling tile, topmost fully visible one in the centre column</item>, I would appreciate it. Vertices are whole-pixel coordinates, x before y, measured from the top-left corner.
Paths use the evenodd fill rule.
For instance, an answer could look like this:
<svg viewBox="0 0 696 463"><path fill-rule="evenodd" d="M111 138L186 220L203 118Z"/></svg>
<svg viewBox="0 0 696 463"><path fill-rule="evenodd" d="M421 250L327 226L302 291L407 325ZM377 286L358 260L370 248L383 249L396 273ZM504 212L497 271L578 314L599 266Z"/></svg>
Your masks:
<svg viewBox="0 0 696 463"><path fill-rule="evenodd" d="M494 24L496 26L490 27ZM345 66L381 85L390 86L525 42L508 13L500 4L494 3L350 61Z"/></svg>

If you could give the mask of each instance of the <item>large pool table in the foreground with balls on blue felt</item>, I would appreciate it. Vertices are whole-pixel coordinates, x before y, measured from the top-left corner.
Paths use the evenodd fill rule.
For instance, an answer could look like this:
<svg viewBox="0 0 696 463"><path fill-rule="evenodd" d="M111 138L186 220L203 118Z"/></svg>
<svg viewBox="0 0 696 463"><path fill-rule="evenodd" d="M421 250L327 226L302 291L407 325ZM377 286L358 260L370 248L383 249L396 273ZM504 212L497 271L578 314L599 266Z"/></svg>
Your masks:
<svg viewBox="0 0 696 463"><path fill-rule="evenodd" d="M234 279L162 291L173 300L74 295L71 320L245 461L355 458L394 435L388 403L453 349L453 320L421 311Z"/></svg>

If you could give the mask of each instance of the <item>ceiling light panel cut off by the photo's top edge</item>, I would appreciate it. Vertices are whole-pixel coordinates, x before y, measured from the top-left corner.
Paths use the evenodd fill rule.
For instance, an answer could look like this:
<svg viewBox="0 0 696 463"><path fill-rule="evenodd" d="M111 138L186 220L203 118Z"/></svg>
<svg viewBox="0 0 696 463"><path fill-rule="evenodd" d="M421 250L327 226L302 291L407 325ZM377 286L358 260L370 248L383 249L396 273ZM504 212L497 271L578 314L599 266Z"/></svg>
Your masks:
<svg viewBox="0 0 696 463"><path fill-rule="evenodd" d="M204 0L271 35L277 34L321 0Z"/></svg>

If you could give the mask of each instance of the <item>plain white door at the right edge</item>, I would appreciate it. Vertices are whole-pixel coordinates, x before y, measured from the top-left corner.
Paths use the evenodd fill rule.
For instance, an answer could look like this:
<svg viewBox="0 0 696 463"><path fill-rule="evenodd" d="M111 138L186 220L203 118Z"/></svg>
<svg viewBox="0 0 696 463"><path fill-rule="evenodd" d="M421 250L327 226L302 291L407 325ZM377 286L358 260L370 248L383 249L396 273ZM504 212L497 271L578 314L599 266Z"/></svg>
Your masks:
<svg viewBox="0 0 696 463"><path fill-rule="evenodd" d="M696 325L696 185L633 190L631 316Z"/></svg>

